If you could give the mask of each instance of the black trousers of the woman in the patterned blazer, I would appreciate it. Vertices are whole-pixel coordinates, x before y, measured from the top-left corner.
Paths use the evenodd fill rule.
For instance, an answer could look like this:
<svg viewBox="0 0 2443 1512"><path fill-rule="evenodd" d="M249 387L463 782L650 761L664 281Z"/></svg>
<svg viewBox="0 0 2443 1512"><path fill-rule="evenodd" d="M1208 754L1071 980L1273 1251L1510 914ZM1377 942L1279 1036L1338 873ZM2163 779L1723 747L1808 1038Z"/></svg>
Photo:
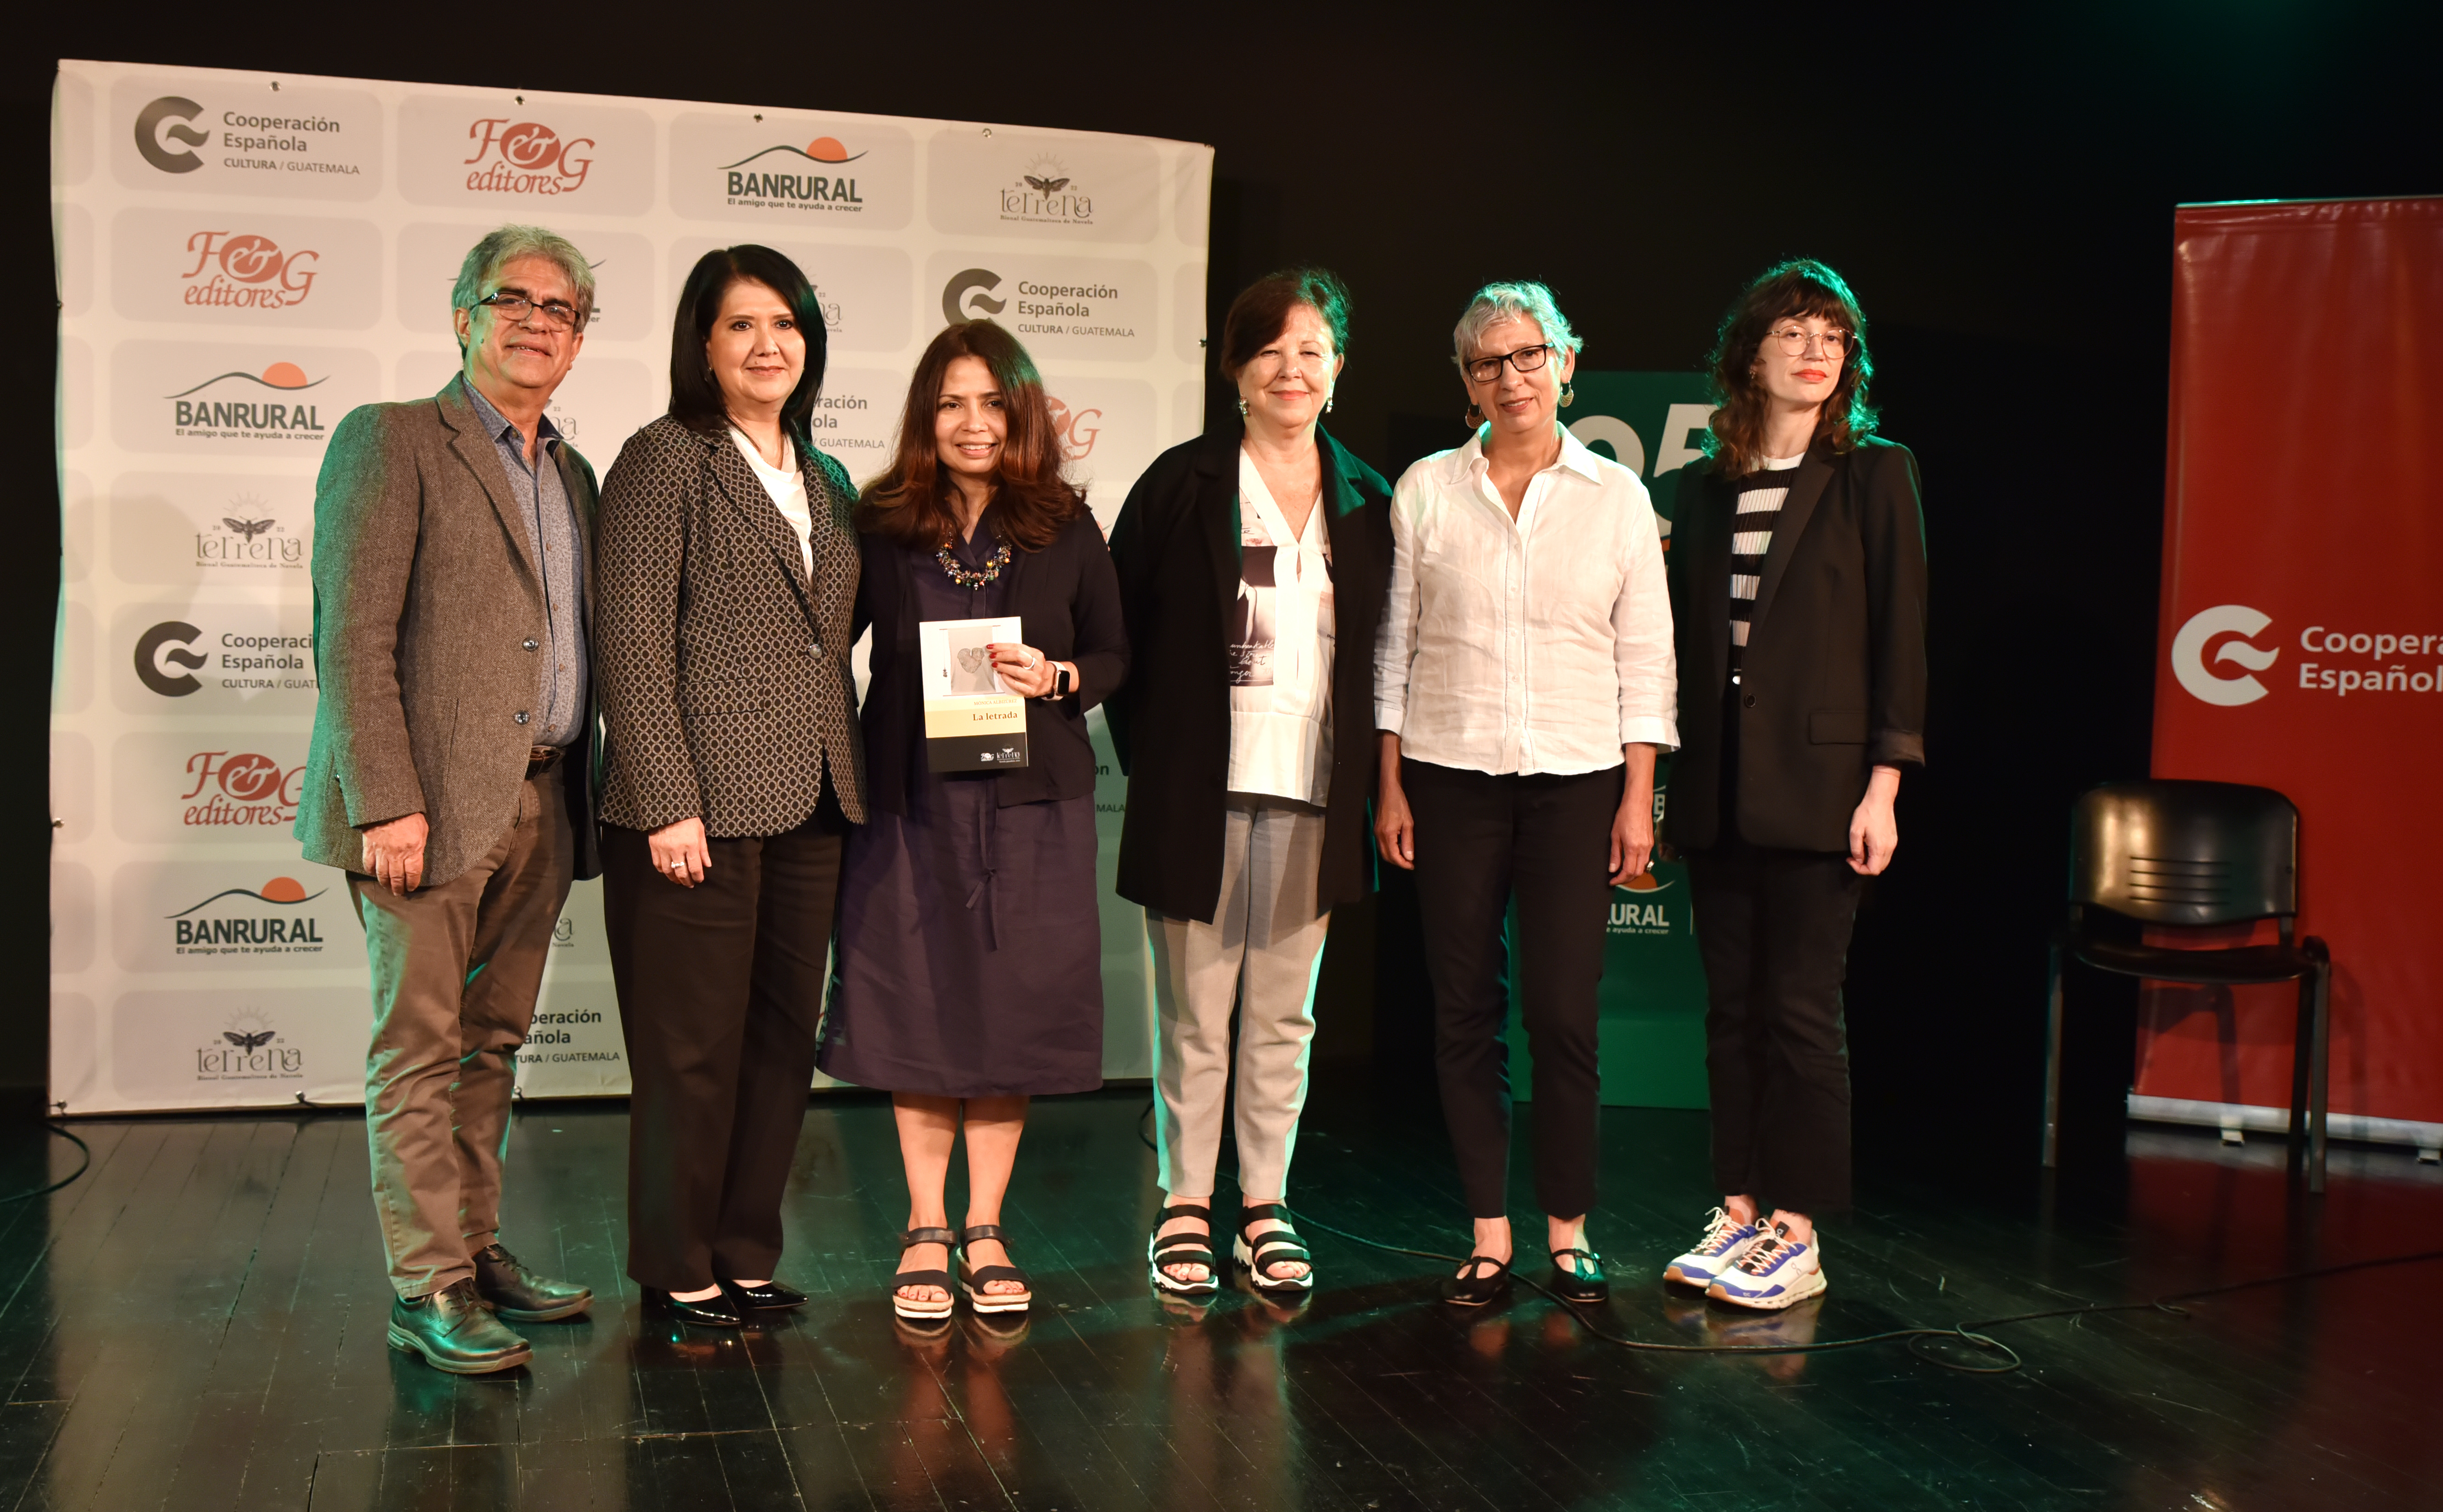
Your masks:
<svg viewBox="0 0 2443 1512"><path fill-rule="evenodd" d="M848 821L713 838L679 887L603 826L603 921L628 1038L628 1275L664 1292L762 1280L814 1087Z"/></svg>

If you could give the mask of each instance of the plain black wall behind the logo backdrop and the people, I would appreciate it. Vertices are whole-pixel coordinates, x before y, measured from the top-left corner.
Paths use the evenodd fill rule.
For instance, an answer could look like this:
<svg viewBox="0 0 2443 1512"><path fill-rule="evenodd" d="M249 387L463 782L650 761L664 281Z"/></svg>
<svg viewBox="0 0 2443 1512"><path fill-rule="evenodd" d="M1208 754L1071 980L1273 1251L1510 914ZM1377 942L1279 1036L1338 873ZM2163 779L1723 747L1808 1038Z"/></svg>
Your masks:
<svg viewBox="0 0 2443 1512"><path fill-rule="evenodd" d="M0 1085L44 1075L44 743L56 601L46 122L61 56L948 115L1212 142L1212 330L1251 276L1339 269L1336 432L1388 474L1454 445L1449 327L1549 281L1598 369L1686 369L1739 283L1842 269L1886 432L1925 469L1932 765L1852 962L1869 1150L2033 1153L2064 806L2143 774L2162 537L2172 205L2433 193L2433 5L1901 7L44 7L0 56L5 415ZM435 332L435 340L442 340ZM1322 1055L1419 1075L1414 980L1351 918ZM1397 967L1397 896L1383 909ZM1363 943L1363 948L1361 948ZM1373 999L1373 1014L1363 1011ZM2130 999L2089 984L2086 1124ZM1419 1087L1422 1089L1422 1087ZM1942 1141L1928 1141L1932 1126Z"/></svg>

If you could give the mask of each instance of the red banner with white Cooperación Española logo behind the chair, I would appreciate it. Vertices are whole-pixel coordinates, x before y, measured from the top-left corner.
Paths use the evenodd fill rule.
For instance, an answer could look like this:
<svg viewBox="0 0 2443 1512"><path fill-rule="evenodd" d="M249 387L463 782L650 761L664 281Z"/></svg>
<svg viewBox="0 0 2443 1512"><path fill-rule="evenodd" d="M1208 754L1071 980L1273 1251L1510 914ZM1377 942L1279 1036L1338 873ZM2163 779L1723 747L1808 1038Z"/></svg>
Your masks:
<svg viewBox="0 0 2443 1512"><path fill-rule="evenodd" d="M2443 198L2174 217L2155 774L2299 806L2338 1133L2443 1133ZM2296 989L2150 984L2133 1111L2279 1126Z"/></svg>

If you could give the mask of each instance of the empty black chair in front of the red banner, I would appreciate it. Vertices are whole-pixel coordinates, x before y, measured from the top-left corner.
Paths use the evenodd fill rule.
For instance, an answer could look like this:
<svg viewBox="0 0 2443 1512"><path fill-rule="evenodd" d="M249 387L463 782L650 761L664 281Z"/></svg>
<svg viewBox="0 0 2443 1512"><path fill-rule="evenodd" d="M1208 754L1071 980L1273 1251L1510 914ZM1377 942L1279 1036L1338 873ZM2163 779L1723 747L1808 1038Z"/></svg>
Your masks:
<svg viewBox="0 0 2443 1512"><path fill-rule="evenodd" d="M2155 928L2274 918L2279 945L2177 950L2096 938L2086 909ZM2299 923L2299 809L2270 787L2238 782L2106 782L2069 811L2069 918L2052 936L2052 1023L2045 1053L2045 1165L2062 1119L2062 965L2155 982L2240 987L2299 982L2292 1060L2292 1143L2309 1141L2306 1190L2323 1192L2326 1043L2333 955L2292 940Z"/></svg>

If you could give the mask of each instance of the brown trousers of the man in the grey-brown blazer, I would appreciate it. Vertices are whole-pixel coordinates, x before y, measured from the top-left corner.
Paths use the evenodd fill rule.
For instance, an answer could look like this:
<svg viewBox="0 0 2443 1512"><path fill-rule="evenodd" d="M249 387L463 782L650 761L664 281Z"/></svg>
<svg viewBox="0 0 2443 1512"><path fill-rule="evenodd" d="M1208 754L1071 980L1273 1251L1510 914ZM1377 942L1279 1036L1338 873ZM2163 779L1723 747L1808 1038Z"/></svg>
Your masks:
<svg viewBox="0 0 2443 1512"><path fill-rule="evenodd" d="M535 1019L577 845L555 765L518 789L491 852L440 887L391 894L349 872L374 962L364 1133L401 1297L474 1275L501 1229L501 1150L518 1045Z"/></svg>

